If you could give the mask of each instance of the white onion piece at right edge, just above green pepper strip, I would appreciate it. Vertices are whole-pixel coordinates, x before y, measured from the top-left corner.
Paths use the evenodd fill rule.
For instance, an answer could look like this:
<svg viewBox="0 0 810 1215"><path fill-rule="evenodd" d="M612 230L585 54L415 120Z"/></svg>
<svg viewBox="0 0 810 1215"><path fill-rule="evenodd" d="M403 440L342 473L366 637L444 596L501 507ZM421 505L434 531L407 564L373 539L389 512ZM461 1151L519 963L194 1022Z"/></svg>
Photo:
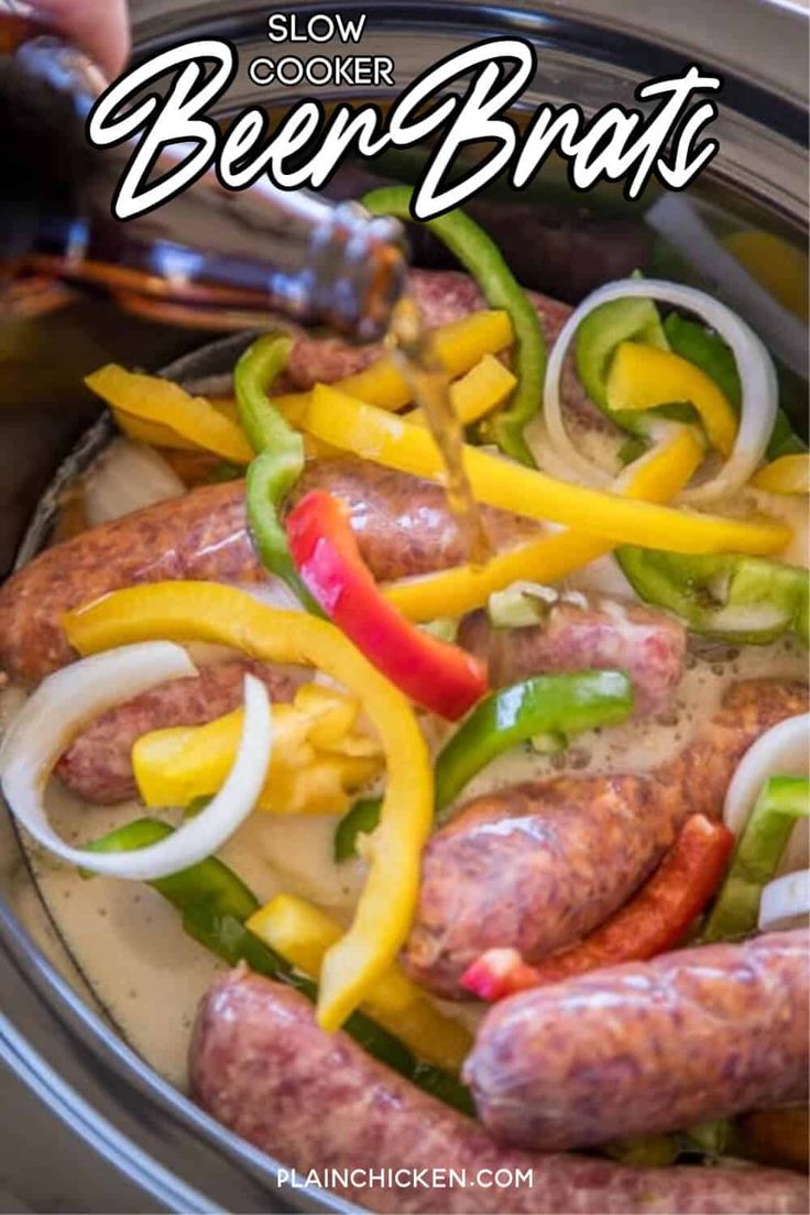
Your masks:
<svg viewBox="0 0 810 1215"><path fill-rule="evenodd" d="M723 818L740 837L769 776L806 776L810 769L810 713L788 717L767 730L737 764L726 793ZM808 865L808 819L794 826L780 863L781 872Z"/></svg>

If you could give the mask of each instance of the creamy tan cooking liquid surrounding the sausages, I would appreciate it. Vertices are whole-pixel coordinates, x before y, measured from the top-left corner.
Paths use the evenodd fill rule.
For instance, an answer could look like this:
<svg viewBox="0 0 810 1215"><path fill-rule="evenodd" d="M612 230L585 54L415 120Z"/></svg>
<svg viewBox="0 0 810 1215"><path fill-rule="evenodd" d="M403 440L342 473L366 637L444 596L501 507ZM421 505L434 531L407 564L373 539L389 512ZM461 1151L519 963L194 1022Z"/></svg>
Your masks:
<svg viewBox="0 0 810 1215"><path fill-rule="evenodd" d="M650 772L672 759L716 711L724 690L736 679L769 676L801 679L806 655L792 640L748 646L726 661L693 660L679 685L665 722L631 720L593 730L573 740L561 756L515 747L489 764L465 789L460 801L486 796L525 780L596 773ZM19 707L22 694L0 693L0 734ZM136 802L89 806L51 781L49 814L70 843L86 844L143 814ZM220 855L265 900L282 891L311 899L347 923L366 881L361 859L336 865L333 816L253 814ZM806 823L797 831L806 832ZM799 850L804 847L797 840ZM12 855L10 847L7 855ZM87 987L109 1012L124 1038L181 1089L186 1087L186 1055L197 1004L225 965L188 937L172 906L141 882L95 877L28 846L36 885ZM794 868L794 866L793 866ZM21 868L11 902L35 931L36 895ZM49 950L47 926L36 939ZM56 942L51 942L51 950ZM480 1006L442 1004L448 1016L471 1028Z"/></svg>

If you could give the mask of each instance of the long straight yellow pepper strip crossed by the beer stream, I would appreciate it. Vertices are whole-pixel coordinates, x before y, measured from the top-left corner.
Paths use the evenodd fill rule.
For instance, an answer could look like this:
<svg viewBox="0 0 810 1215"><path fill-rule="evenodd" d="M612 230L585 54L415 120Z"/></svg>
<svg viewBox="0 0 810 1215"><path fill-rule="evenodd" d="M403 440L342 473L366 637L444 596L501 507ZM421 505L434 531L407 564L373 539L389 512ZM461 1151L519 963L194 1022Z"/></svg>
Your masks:
<svg viewBox="0 0 810 1215"><path fill-rule="evenodd" d="M332 388L316 386L304 424L317 439L375 464L442 482L442 458L426 430ZM661 548L665 537L667 548L678 553L766 554L784 548L791 538L789 527L774 520L726 519L630 501L560 481L469 445L464 462L478 502L614 543Z"/></svg>

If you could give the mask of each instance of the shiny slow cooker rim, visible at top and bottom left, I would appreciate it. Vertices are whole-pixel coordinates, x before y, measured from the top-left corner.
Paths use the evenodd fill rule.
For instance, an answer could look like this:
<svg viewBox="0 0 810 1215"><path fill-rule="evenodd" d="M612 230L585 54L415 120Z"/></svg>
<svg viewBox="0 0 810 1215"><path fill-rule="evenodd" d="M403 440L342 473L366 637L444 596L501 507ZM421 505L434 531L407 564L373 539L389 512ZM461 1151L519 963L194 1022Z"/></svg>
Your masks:
<svg viewBox="0 0 810 1215"><path fill-rule="evenodd" d="M278 5L277 11L346 11L340 0ZM367 0L369 27L418 33L426 26L470 40L493 30L529 38L540 51L554 46L570 55L655 75L697 58L726 74L731 108L780 132L806 142L806 10L778 0L567 0L551 4L483 4L481 0L393 2ZM221 0L134 4L138 53L153 52L185 36L219 34L257 39L267 16L266 0L223 6ZM225 11L223 11L225 10ZM702 47L710 46L707 62ZM233 339L168 368L169 374L206 374L205 357ZM221 357L221 356L220 356ZM220 363L221 366L221 363ZM81 445L89 459L108 431L96 428ZM62 475L75 470L63 467ZM57 479L58 479L57 474ZM45 504L44 512L47 510ZM41 529L38 514L33 529ZM36 531L29 530L29 543ZM26 549L30 553L30 549ZM281 1193L268 1157L221 1128L182 1094L163 1081L92 1012L33 945L0 900L0 979L4 991L33 994L35 1027L0 1018L0 1056L43 1100L69 1121L98 1153L138 1185L155 1206L177 1211L305 1210L351 1211L356 1208L318 1191ZM4 1001L5 1002L5 1001ZM13 1001L6 1005L6 1011ZM23 1027L24 1035L19 1028ZM49 1038L52 1036L52 1041ZM55 1067L57 1046L72 1056L69 1073ZM182 1180L183 1177L188 1181Z"/></svg>

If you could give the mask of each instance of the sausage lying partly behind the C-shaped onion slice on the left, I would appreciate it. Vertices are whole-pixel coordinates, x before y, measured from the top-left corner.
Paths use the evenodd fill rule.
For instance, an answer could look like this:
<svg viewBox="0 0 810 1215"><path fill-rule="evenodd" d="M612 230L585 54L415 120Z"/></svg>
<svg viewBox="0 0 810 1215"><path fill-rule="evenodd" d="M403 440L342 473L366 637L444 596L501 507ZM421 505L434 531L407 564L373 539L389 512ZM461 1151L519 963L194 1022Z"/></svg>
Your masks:
<svg viewBox="0 0 810 1215"><path fill-rule="evenodd" d="M73 740L56 775L85 802L109 804L135 797L136 739L170 725L202 725L238 708L245 674L261 679L272 701L293 699L293 676L276 667L243 659L203 666L191 679L160 684L96 718Z"/></svg>

